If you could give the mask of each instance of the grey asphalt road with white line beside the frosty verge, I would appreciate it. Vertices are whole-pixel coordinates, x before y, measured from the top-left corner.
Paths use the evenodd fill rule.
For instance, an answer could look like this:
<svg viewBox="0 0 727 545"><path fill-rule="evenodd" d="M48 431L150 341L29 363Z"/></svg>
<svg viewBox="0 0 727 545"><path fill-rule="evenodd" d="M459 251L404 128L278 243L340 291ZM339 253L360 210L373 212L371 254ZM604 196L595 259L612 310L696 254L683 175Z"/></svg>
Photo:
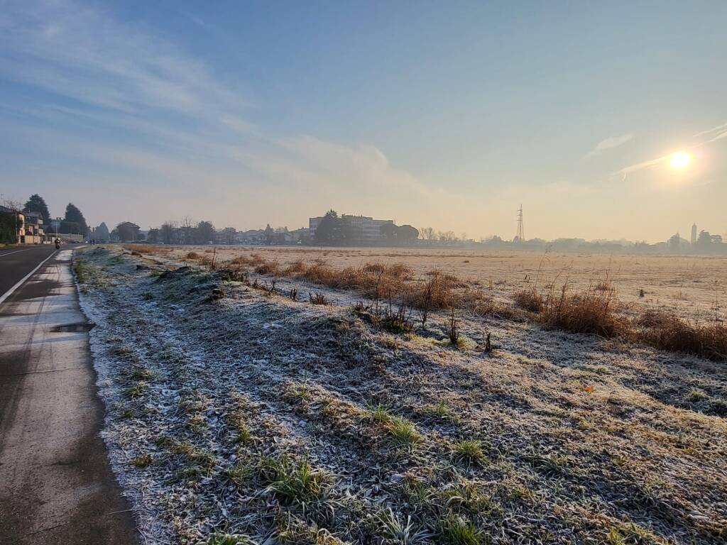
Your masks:
<svg viewBox="0 0 727 545"><path fill-rule="evenodd" d="M2 544L137 543L99 435L103 404L72 251L0 251Z"/></svg>

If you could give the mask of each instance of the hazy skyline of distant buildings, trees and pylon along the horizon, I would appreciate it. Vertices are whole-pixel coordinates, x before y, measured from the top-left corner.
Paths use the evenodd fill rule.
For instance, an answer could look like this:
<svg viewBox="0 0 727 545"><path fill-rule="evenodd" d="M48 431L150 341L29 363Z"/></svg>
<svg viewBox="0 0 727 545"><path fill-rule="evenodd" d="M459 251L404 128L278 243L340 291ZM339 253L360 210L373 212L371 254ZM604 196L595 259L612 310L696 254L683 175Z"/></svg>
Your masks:
<svg viewBox="0 0 727 545"><path fill-rule="evenodd" d="M475 240L454 231L438 231L432 227L395 225L393 219L338 214L326 214L308 219L308 227L289 230L288 227L237 230L217 228L209 221L194 221L184 217L165 221L158 227L142 230L133 222L121 222L109 229L105 222L96 227L87 225L81 211L68 203L63 217L51 217L40 195L31 195L24 204L4 201L0 204L0 244L44 244L60 238L68 243L134 242L170 245L245 245L245 246L441 246L470 249L522 249L532 251L585 251L598 253L644 254L727 254L722 235L699 230L696 224L689 238L675 233L664 242L609 241L584 238L527 239L523 233L522 210L518 216L517 233L513 238L492 235Z"/></svg>

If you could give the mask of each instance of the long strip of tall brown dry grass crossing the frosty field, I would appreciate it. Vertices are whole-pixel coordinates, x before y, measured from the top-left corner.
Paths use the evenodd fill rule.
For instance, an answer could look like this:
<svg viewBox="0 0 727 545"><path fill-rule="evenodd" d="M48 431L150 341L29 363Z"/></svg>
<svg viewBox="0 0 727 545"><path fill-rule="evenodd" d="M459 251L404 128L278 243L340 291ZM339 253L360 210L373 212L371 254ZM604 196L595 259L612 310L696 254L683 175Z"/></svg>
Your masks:
<svg viewBox="0 0 727 545"><path fill-rule="evenodd" d="M145 254L172 251L171 248L139 244L125 248ZM188 251L184 257L212 266L209 257L196 251ZM338 268L323 259L310 262L297 259L281 267L277 261L253 253L234 257L222 266L234 271L236 278L246 278L244 271L252 267L258 274L283 275L329 288L358 290L374 302L406 302L419 311L422 326L426 325L429 312L453 308L466 309L475 315L497 314L504 318L518 315L512 307L495 302L484 291L467 285L455 275L431 270L423 277L415 278L414 270L402 263L369 262L361 267ZM515 307L535 313L540 323L563 331L622 336L662 350L686 352L712 360L727 359L727 327L718 322L691 323L676 315L651 310L636 320L627 318L615 312L614 288L608 275L605 280L591 283L582 293L572 293L569 289L569 283L560 290L550 283L542 292L536 288L517 291L513 300ZM314 304L329 304L322 294L313 294L309 300Z"/></svg>

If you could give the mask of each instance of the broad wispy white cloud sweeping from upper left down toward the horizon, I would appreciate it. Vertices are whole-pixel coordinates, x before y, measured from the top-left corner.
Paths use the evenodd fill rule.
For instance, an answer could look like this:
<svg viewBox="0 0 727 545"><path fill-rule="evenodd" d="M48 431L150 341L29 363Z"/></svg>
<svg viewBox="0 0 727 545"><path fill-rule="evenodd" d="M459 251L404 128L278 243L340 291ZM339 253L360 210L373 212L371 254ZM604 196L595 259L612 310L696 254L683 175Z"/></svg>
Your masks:
<svg viewBox="0 0 727 545"><path fill-rule="evenodd" d="M216 217L232 225L245 198L269 199L265 187L276 187L276 207L292 217L324 206L358 211L356 203L377 203L381 214L419 214L428 203L457 201L395 168L374 145L268 134L249 120L259 106L236 92L237 85L149 28L100 9L23 2L7 9L0 32L0 78L47 92L43 103L25 105L19 114L27 126L13 127L29 148L39 156L65 154L66 163L105 177L128 175L138 189L167 185L193 193L198 187L188 203L195 214L212 211L204 200L209 195L212 202L222 188L226 210L214 200ZM12 124L23 121L15 116ZM158 221L179 205L166 198L156 204ZM117 213L136 211L128 206ZM248 212L258 222L268 213L262 207Z"/></svg>

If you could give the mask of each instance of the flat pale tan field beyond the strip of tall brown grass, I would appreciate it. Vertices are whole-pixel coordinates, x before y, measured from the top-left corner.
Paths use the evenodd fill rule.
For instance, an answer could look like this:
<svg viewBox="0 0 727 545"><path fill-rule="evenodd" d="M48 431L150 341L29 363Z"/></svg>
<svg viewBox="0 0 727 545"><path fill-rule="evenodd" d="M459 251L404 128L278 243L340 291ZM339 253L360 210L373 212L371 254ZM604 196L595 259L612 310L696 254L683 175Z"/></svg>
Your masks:
<svg viewBox="0 0 727 545"><path fill-rule="evenodd" d="M166 250L166 249L165 249ZM209 246L172 247L181 261L189 251L209 254ZM366 263L411 267L415 275L441 270L494 296L509 298L533 286L569 283L574 291L609 283L624 303L670 310L693 320L727 319L727 257L604 254L538 254L531 251L462 251L461 249L289 248L217 246L220 262L258 255L281 266L297 260L322 260L332 267ZM640 291L643 290L643 297Z"/></svg>

